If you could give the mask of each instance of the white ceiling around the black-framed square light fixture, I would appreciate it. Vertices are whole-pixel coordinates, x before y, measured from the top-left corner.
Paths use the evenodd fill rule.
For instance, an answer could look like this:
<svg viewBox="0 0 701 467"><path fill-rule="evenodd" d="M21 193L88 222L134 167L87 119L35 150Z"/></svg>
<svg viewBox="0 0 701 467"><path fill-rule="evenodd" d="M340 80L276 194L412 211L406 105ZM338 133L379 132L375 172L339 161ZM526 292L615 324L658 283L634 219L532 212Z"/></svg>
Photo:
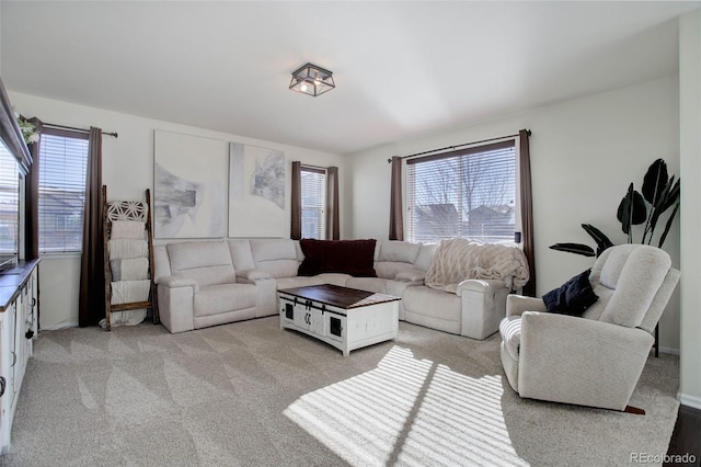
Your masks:
<svg viewBox="0 0 701 467"><path fill-rule="evenodd" d="M675 75L700 5L3 0L0 59L13 91L350 153ZM336 89L288 90L306 61Z"/></svg>

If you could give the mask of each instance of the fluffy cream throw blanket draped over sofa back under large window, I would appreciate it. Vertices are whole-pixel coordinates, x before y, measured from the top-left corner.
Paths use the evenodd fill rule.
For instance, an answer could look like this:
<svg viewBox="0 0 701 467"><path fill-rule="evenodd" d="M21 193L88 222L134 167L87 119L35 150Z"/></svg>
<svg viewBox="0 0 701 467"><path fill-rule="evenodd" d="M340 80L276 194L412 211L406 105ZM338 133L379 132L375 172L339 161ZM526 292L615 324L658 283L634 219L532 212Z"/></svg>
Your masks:
<svg viewBox="0 0 701 467"><path fill-rule="evenodd" d="M426 285L455 292L468 278L503 280L509 287L522 287L529 278L528 262L517 247L467 238L441 240L426 271Z"/></svg>

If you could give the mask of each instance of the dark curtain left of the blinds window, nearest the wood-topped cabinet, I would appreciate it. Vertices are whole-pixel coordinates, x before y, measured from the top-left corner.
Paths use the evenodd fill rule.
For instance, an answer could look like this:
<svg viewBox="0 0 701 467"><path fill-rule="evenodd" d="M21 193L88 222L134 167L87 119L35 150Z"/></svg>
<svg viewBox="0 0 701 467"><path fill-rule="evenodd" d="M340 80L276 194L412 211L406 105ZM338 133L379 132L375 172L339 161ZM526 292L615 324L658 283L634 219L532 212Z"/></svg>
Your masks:
<svg viewBox="0 0 701 467"><path fill-rule="evenodd" d="M44 124L41 119L30 118L36 132L41 135ZM30 145L32 166L24 183L24 259L26 261L39 258L39 145L38 141Z"/></svg>

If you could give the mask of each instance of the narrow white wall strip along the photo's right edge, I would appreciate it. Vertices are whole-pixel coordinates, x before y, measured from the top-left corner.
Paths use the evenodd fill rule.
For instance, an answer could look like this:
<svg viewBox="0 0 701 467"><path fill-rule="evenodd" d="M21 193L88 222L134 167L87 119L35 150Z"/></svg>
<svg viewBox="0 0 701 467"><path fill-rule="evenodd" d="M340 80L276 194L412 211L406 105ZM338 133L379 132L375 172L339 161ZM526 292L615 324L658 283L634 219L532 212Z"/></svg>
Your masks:
<svg viewBox="0 0 701 467"><path fill-rule="evenodd" d="M681 379L679 399L701 409L701 10L679 22L681 169Z"/></svg>

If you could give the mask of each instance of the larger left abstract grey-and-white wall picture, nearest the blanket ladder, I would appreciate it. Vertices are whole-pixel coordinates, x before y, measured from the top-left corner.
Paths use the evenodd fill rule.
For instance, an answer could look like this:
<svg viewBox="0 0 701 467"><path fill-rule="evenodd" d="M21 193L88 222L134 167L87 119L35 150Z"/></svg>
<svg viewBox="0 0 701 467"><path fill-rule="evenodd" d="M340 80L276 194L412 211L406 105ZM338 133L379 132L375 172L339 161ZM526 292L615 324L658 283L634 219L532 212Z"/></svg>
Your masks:
<svg viewBox="0 0 701 467"><path fill-rule="evenodd" d="M157 129L154 148L154 237L225 237L227 143Z"/></svg>

